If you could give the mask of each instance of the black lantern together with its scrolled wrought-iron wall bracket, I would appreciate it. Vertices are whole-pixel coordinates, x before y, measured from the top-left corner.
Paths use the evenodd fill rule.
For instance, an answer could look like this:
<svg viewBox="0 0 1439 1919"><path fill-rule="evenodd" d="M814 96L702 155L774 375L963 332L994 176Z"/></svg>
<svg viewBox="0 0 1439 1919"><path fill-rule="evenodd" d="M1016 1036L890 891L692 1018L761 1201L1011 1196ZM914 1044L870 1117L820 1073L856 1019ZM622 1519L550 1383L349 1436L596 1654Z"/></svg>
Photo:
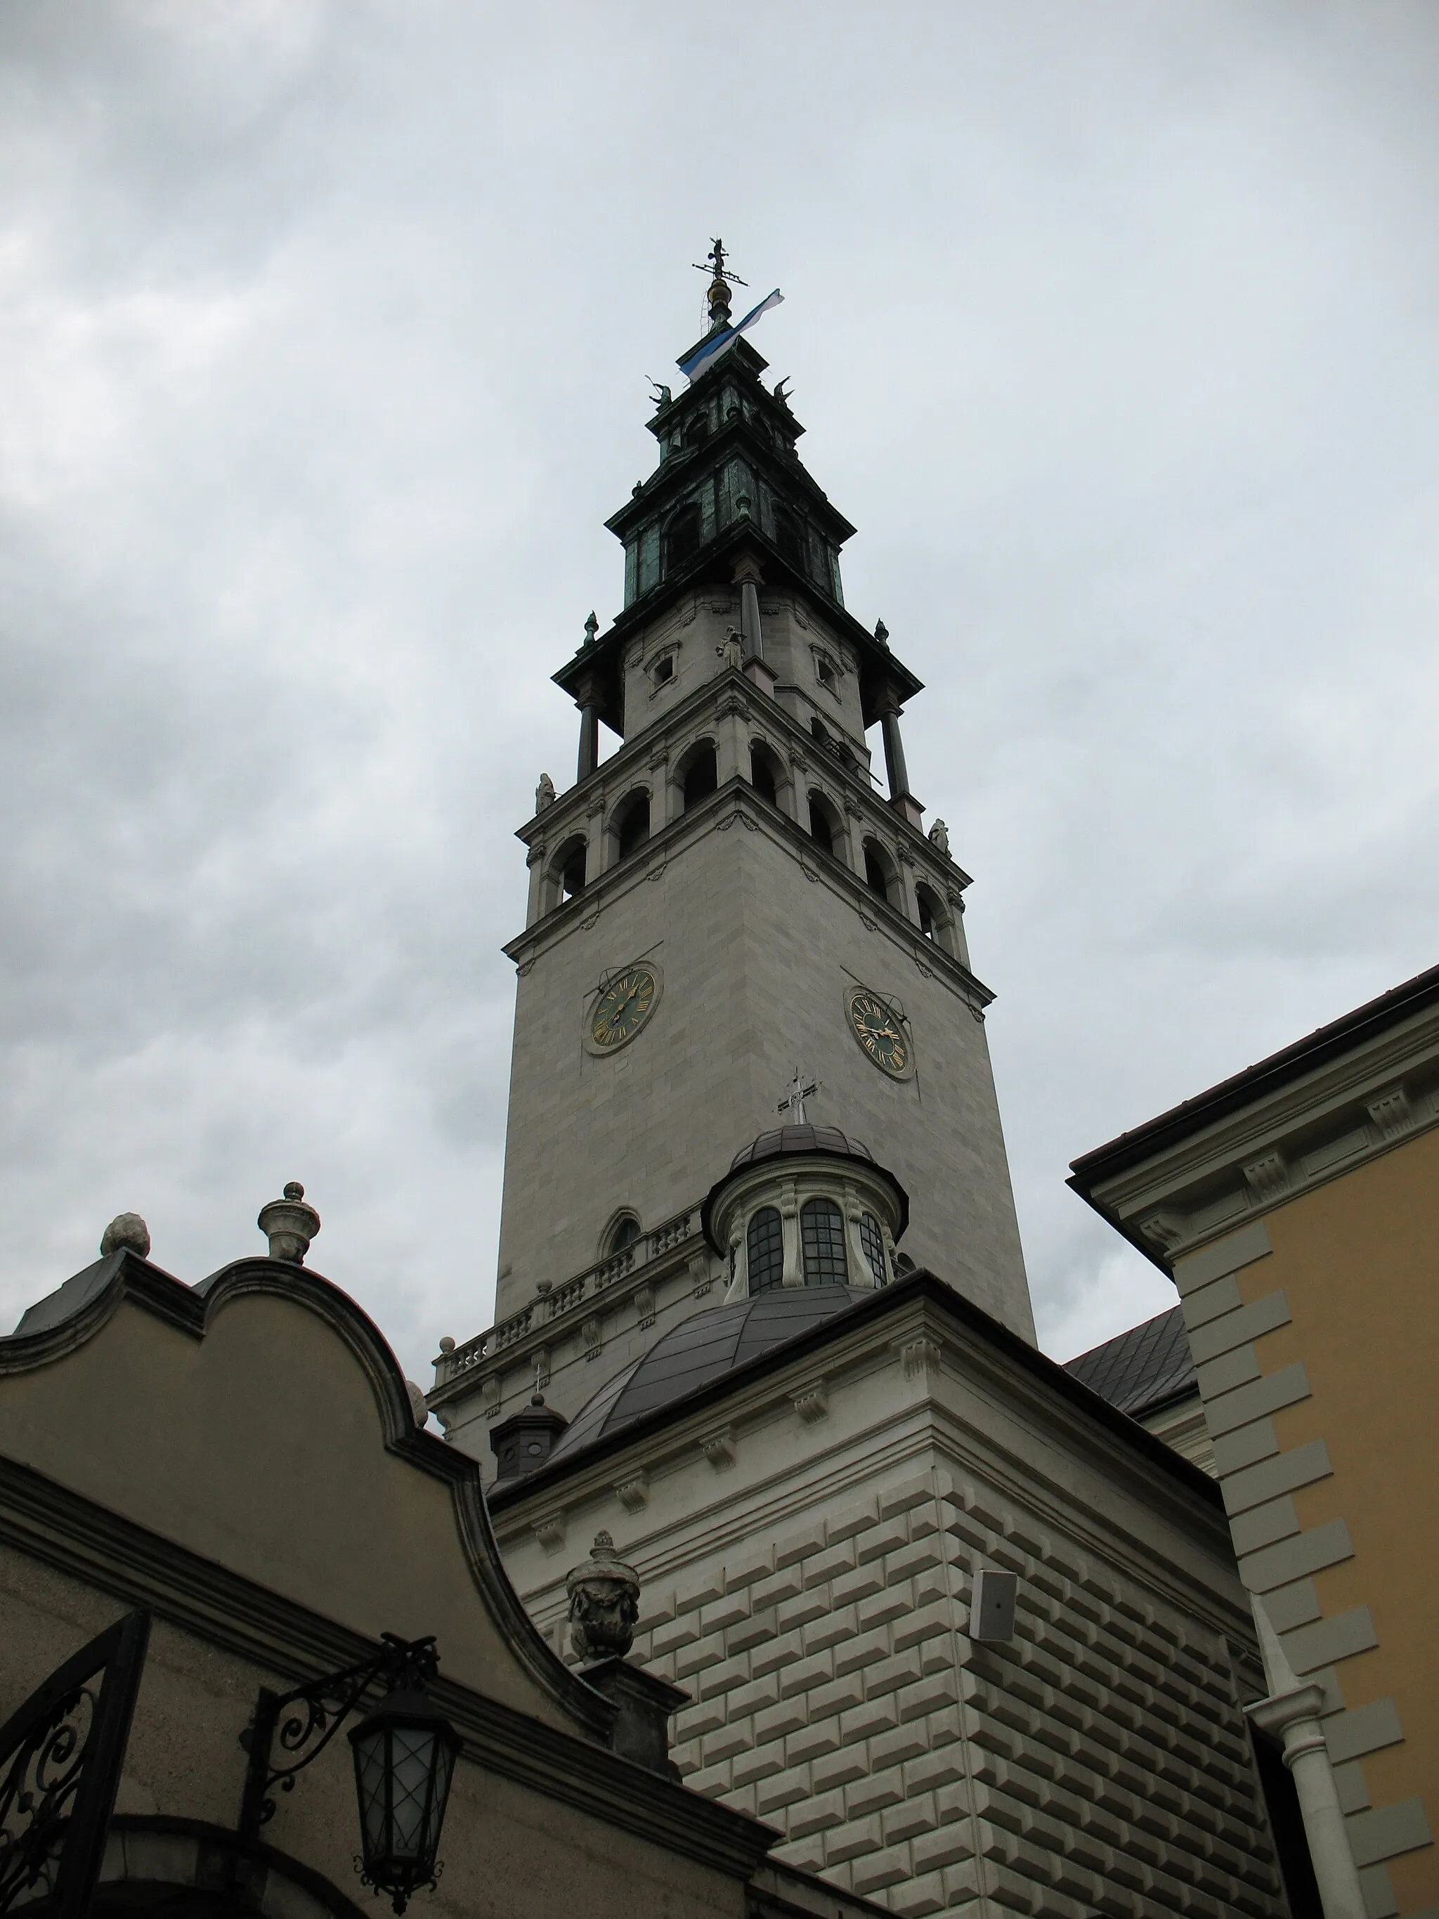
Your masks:
<svg viewBox="0 0 1439 1919"><path fill-rule="evenodd" d="M389 1691L349 1735L361 1813L363 1884L389 1894L403 1913L420 1886L439 1877L436 1854L460 1739L434 1706L428 1683L439 1670L434 1639L380 1635L363 1666L313 1679L294 1693L261 1689L242 1744L249 1752L240 1836L257 1840L274 1815L271 1790L294 1792L295 1775L324 1752L365 1693ZM274 1764L278 1742L284 1760Z"/></svg>

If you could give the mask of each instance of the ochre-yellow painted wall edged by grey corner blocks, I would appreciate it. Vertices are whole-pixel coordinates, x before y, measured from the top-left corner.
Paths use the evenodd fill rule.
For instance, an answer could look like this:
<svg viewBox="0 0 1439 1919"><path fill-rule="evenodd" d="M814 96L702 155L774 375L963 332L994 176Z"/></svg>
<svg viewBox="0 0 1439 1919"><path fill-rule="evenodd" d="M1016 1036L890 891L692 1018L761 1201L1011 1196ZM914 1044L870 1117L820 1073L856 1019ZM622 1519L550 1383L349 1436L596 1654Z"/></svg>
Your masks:
<svg viewBox="0 0 1439 1919"><path fill-rule="evenodd" d="M1393 1696L1404 1742L1364 1760L1376 1806L1418 1796L1439 1827L1439 1132L1393 1148L1266 1217L1272 1259L1245 1299L1284 1288L1291 1322L1255 1341L1270 1374L1303 1361L1310 1399L1280 1447L1324 1439L1333 1476L1295 1495L1305 1529L1343 1518L1355 1556L1318 1574L1326 1618L1368 1606L1378 1648L1337 1666L1345 1704ZM1401 1913L1439 1906L1439 1848L1389 1865Z"/></svg>

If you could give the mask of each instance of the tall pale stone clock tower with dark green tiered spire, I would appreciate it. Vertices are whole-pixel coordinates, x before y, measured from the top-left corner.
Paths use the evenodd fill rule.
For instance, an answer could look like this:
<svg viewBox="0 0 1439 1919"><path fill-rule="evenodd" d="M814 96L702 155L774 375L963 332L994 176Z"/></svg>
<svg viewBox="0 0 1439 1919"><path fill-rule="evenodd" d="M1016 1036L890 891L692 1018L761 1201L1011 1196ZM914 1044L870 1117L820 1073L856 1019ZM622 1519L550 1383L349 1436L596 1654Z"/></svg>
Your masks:
<svg viewBox="0 0 1439 1919"><path fill-rule="evenodd" d="M846 610L854 528L731 328L718 246L712 267L693 378L649 420L658 464L606 522L624 610L604 631L591 614L554 674L579 710L574 785L543 777L518 833L497 1324L447 1341L432 1395L482 1457L482 1387L489 1420L537 1384L572 1416L723 1297L733 1249L727 1268L700 1203L783 1121L842 1128L902 1186L877 1276L932 1267L1034 1338L969 877L925 831L900 741L921 683Z"/></svg>

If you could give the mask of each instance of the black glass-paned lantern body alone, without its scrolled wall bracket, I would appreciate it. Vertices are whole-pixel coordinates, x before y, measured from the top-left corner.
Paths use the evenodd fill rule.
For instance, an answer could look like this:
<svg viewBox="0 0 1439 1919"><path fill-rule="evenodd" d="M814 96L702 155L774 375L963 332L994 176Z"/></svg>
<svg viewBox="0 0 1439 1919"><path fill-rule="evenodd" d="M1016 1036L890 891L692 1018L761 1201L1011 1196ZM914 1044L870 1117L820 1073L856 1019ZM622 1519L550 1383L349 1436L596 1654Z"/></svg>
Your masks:
<svg viewBox="0 0 1439 1919"><path fill-rule="evenodd" d="M439 1827L460 1741L434 1708L424 1675L407 1671L349 1735L365 1846L361 1881L397 1913L434 1886Z"/></svg>

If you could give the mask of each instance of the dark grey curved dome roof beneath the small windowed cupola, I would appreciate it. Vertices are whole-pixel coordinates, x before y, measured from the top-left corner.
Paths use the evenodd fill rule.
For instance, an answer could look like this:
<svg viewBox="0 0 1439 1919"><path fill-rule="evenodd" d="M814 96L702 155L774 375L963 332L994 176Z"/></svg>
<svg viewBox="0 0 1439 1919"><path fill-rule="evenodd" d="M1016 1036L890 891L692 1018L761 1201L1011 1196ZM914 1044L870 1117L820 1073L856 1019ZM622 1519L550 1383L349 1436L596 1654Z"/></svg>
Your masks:
<svg viewBox="0 0 1439 1919"><path fill-rule="evenodd" d="M869 1297L871 1293L850 1286L783 1286L756 1293L754 1299L737 1299L727 1307L695 1313L656 1339L643 1359L618 1372L576 1412L547 1464L570 1458L606 1433L645 1418L647 1412L687 1399L771 1347L798 1339L835 1313Z"/></svg>

